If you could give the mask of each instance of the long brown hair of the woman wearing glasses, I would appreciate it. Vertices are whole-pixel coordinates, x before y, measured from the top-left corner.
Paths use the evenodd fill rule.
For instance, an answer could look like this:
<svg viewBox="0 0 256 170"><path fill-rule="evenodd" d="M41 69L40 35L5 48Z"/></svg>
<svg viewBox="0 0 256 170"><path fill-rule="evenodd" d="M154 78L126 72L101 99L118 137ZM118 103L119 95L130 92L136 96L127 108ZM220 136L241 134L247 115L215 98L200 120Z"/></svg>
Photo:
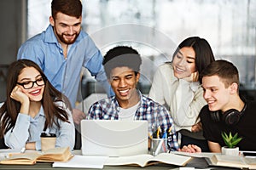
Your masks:
<svg viewBox="0 0 256 170"><path fill-rule="evenodd" d="M6 101L0 108L0 138L3 138L3 135L7 133L9 129L15 127L15 122L20 112L20 102L15 99L11 99L10 94L17 84L20 71L26 67L35 68L39 71L41 76L44 77L44 94L43 99L41 100L45 115L44 130L47 127L51 127L54 123L57 127L60 127L59 123L56 121L57 119L60 119L63 122L69 122L66 109L68 108L70 111L72 111L72 109L67 97L51 85L45 77L44 72L36 63L28 59L20 59L9 65ZM65 108L64 105L55 105L56 101L62 101L66 105Z"/></svg>

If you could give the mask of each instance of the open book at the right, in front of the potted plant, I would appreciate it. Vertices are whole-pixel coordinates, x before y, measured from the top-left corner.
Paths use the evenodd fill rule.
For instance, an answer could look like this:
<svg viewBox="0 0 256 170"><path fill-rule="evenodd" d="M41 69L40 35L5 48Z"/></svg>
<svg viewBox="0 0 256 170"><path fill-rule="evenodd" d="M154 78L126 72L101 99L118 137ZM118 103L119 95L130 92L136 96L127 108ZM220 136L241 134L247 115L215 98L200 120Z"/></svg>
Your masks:
<svg viewBox="0 0 256 170"><path fill-rule="evenodd" d="M212 166L256 169L256 158L243 156L215 155L208 159Z"/></svg>

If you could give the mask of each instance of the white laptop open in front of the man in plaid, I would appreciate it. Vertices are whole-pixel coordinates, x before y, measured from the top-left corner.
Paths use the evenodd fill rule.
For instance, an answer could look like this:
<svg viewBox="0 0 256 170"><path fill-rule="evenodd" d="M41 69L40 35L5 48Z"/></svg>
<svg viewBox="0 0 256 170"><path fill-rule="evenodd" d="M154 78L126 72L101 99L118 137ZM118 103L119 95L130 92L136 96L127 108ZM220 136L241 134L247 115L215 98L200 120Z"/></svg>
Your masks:
<svg viewBox="0 0 256 170"><path fill-rule="evenodd" d="M148 122L82 120L82 155L134 156L148 153Z"/></svg>

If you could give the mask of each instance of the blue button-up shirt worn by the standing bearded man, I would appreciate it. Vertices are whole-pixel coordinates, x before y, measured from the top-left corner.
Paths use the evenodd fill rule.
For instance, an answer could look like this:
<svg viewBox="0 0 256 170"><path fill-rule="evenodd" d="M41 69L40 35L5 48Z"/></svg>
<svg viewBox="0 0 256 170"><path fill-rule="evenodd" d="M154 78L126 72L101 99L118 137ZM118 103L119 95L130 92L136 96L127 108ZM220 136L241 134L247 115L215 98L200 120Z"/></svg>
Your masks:
<svg viewBox="0 0 256 170"><path fill-rule="evenodd" d="M78 96L82 67L87 68L91 76L101 82L108 96L113 94L102 66L102 54L85 31L80 31L76 41L68 46L65 59L61 43L49 25L46 31L21 45L17 59L36 62L49 82L67 96L73 107Z"/></svg>

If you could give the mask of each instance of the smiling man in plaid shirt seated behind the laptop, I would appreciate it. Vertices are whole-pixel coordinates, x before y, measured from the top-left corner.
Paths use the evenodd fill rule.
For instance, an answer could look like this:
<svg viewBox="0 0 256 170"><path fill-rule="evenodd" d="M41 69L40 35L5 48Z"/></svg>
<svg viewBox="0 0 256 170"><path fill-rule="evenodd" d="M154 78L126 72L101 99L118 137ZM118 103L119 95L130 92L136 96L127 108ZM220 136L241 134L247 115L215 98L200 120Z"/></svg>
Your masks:
<svg viewBox="0 0 256 170"><path fill-rule="evenodd" d="M171 129L169 147L177 150L176 133L168 111L163 105L143 96L137 89L141 64L141 56L133 48L119 46L110 49L103 59L103 65L115 96L91 105L87 118L147 120L150 135L157 127Z"/></svg>

